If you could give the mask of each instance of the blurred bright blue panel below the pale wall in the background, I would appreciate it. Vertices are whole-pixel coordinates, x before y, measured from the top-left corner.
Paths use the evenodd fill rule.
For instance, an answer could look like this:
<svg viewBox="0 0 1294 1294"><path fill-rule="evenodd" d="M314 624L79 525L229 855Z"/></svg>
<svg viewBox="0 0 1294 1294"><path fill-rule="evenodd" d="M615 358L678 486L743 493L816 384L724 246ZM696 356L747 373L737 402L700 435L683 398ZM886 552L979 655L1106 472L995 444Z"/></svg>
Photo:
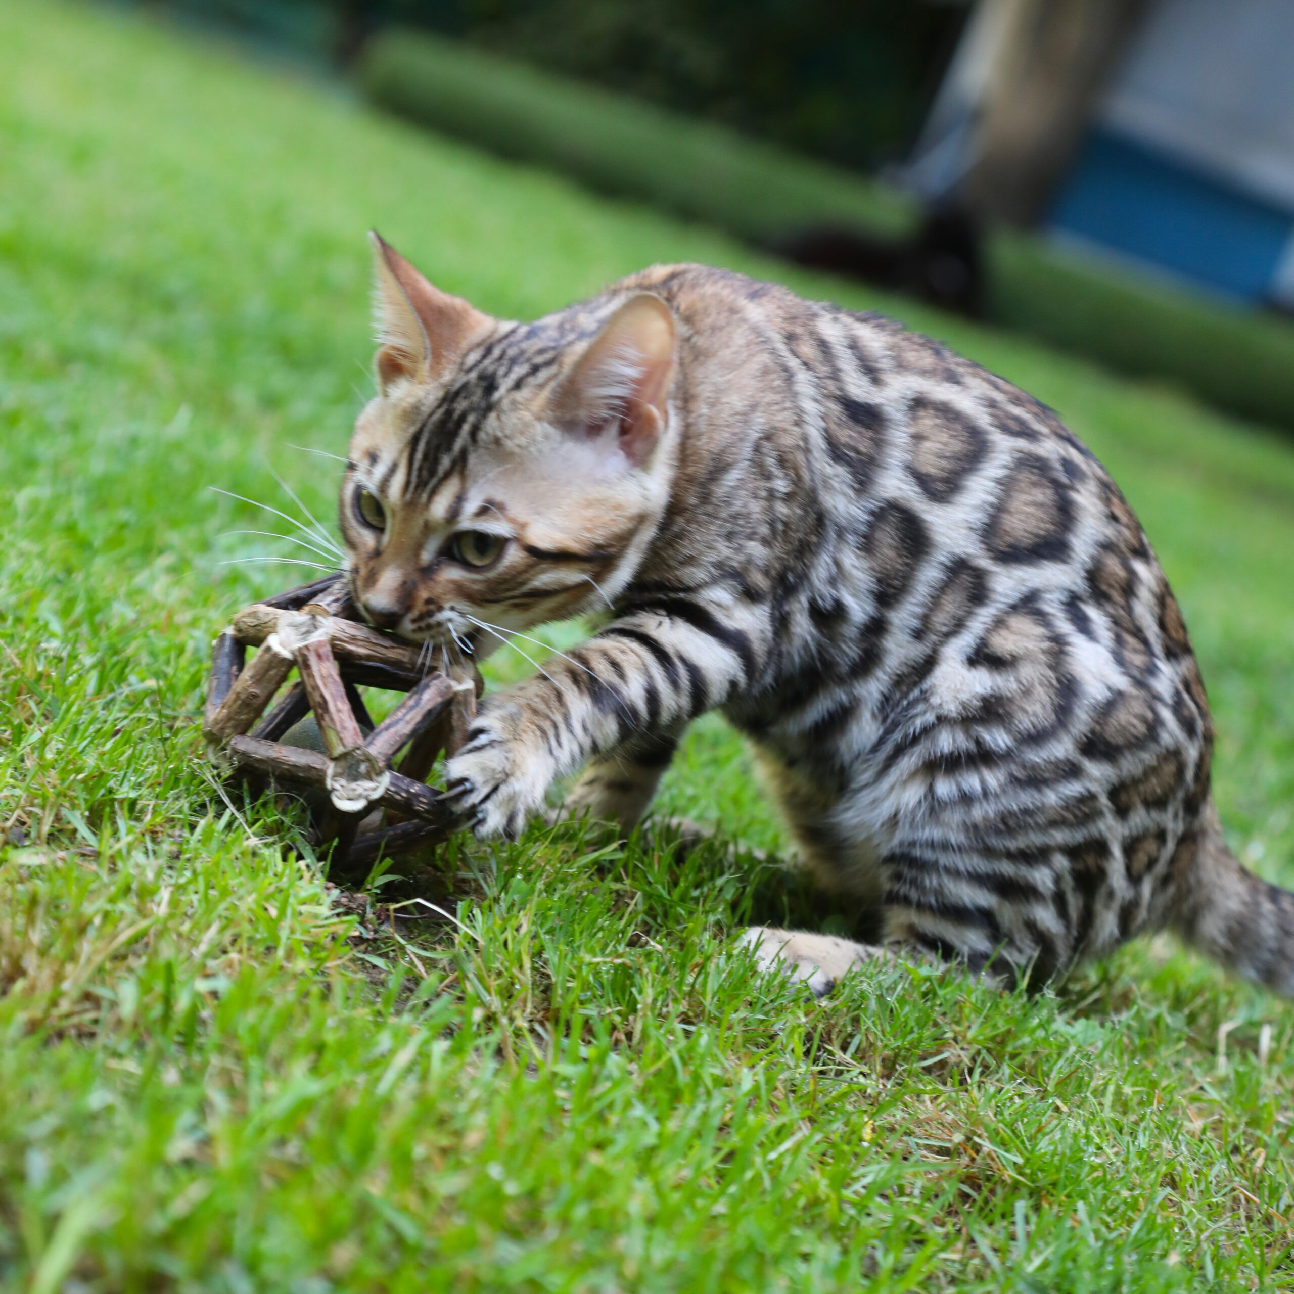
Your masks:
<svg viewBox="0 0 1294 1294"><path fill-rule="evenodd" d="M1266 300L1276 289L1294 215L1099 128L1070 173L1052 225L1219 291Z"/></svg>

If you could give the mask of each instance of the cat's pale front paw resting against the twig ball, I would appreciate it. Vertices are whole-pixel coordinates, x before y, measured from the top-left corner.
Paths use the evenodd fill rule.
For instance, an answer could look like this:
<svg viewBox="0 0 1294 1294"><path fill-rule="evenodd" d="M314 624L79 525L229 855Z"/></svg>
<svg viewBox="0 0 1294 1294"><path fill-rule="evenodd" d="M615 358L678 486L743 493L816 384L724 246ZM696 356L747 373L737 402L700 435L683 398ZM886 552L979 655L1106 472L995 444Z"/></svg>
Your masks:
<svg viewBox="0 0 1294 1294"><path fill-rule="evenodd" d="M445 796L477 840L516 840L543 806L547 760L525 741L521 708L483 707L458 754L445 762Z"/></svg>

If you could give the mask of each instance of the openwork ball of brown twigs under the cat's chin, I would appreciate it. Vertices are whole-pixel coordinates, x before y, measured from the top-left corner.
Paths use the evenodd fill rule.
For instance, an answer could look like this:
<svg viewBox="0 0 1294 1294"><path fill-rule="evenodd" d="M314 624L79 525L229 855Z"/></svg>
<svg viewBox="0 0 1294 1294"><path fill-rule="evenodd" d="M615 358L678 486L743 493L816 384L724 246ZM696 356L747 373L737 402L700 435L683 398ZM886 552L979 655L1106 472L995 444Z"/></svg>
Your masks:
<svg viewBox="0 0 1294 1294"><path fill-rule="evenodd" d="M334 864L439 844L462 823L427 776L443 751L463 743L483 685L475 666L463 677L426 672L421 655L362 624L340 576L258 602L212 646L207 748L254 788L307 792L314 844L331 846ZM361 687L406 696L374 725ZM314 729L303 722L311 717ZM283 740L307 730L302 744Z"/></svg>

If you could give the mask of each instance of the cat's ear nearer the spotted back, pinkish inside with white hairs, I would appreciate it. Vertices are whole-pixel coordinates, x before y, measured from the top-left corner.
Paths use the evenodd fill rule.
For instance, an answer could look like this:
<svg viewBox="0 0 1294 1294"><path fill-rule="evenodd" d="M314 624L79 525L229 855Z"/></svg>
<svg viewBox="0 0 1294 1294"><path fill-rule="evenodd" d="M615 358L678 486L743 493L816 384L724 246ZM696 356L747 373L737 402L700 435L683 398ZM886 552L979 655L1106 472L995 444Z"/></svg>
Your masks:
<svg viewBox="0 0 1294 1294"><path fill-rule="evenodd" d="M673 375L674 316L659 296L641 292L611 316L558 388L558 421L587 436L613 430L641 467L665 430Z"/></svg>

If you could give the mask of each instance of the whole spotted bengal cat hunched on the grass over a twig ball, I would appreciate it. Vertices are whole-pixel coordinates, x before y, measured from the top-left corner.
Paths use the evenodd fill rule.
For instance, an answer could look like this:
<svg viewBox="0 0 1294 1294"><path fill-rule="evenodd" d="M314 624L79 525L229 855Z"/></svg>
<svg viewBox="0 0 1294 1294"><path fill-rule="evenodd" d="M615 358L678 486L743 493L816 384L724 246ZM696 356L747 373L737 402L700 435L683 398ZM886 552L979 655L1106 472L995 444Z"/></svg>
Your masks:
<svg viewBox="0 0 1294 1294"><path fill-rule="evenodd" d="M1051 409L725 270L516 324L374 248L379 393L342 488L357 604L481 653L611 609L484 699L446 767L477 836L515 836L582 765L575 807L630 826L717 709L886 945L1042 982L1167 927L1294 991L1294 895L1223 842L1178 603ZM747 941L817 992L873 951Z"/></svg>

